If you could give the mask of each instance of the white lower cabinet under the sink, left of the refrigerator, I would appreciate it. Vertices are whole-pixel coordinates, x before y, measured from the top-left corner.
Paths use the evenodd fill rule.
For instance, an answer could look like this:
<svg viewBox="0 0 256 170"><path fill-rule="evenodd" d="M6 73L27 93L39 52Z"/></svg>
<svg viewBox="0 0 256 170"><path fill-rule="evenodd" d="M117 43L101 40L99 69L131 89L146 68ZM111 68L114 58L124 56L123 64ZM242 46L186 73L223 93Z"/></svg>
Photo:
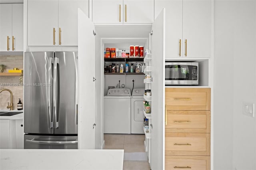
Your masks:
<svg viewBox="0 0 256 170"><path fill-rule="evenodd" d="M23 149L22 119L0 119L0 149Z"/></svg>

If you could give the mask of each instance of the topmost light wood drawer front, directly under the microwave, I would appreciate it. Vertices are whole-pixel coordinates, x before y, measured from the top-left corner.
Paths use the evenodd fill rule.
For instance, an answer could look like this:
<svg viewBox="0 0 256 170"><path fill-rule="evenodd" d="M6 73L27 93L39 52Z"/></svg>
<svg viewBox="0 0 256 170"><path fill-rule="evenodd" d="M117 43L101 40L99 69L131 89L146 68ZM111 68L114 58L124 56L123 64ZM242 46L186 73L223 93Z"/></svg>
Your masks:
<svg viewBox="0 0 256 170"><path fill-rule="evenodd" d="M210 110L209 88L165 88L167 110Z"/></svg>

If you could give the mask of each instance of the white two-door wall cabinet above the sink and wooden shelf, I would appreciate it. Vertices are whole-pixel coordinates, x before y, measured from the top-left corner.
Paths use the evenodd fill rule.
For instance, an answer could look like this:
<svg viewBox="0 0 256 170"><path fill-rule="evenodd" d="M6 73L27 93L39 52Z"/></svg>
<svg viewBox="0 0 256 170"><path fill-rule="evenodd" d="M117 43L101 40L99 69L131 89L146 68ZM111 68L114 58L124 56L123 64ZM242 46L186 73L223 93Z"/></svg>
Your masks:
<svg viewBox="0 0 256 170"><path fill-rule="evenodd" d="M0 4L0 51L23 51L23 4Z"/></svg>

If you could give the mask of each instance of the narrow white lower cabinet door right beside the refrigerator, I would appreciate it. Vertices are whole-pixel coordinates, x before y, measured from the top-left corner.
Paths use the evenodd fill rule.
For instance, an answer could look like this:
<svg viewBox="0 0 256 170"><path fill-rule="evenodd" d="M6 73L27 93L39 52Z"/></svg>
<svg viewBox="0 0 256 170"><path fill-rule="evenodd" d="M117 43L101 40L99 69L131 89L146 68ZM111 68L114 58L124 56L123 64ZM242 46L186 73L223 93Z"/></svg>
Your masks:
<svg viewBox="0 0 256 170"><path fill-rule="evenodd" d="M15 121L15 130L16 130L16 149L24 148L24 126L23 120Z"/></svg>

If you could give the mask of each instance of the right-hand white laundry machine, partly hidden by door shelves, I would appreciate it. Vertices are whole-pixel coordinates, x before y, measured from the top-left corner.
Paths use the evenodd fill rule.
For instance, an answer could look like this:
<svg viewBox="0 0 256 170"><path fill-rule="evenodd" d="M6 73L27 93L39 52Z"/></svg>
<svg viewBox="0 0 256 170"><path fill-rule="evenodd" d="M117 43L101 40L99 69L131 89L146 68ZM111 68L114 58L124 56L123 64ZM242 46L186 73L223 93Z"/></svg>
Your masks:
<svg viewBox="0 0 256 170"><path fill-rule="evenodd" d="M145 88L133 89L131 96L131 133L144 134L144 95Z"/></svg>

